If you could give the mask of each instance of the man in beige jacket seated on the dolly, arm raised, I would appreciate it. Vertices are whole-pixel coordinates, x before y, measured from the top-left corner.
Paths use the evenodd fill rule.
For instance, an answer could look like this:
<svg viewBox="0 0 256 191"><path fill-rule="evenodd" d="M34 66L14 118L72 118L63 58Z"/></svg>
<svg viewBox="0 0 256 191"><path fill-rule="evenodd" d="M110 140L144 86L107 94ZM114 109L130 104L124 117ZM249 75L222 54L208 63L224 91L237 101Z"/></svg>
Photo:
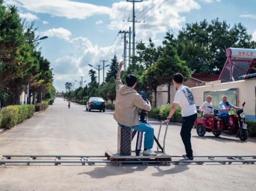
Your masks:
<svg viewBox="0 0 256 191"><path fill-rule="evenodd" d="M154 129L146 123L139 121L138 108L146 111L151 110L149 102L144 101L139 93L134 90L137 84L136 76L129 74L126 77L126 85L120 80L121 69L124 62L119 63L119 70L116 79L117 97L115 102L114 119L119 126L130 127L136 131L145 132L143 155L156 156L152 152L154 144Z"/></svg>

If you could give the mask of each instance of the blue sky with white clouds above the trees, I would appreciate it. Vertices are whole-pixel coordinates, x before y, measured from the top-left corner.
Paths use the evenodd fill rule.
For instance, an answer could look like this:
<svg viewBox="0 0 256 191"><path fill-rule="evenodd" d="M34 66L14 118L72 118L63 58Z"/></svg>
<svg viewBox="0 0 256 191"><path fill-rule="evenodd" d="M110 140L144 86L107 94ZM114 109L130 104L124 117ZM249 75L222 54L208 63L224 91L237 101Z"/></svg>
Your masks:
<svg viewBox="0 0 256 191"><path fill-rule="evenodd" d="M114 54L123 60L121 31L132 27L132 3L126 0L5 0L16 4L22 20L34 21L35 35L42 40L42 55L51 62L53 85L65 91L65 82L78 88L90 82L89 70L110 64ZM234 26L241 22L256 40L256 0L143 0L136 4L136 41L149 38L160 45L166 31L178 33L186 23L204 19L226 20ZM132 29L132 28L131 28ZM221 43L221 42L220 42ZM128 51L127 51L128 54ZM94 69L95 70L95 69ZM105 67L106 72L109 66ZM97 71L97 70L96 70ZM98 71L97 71L98 76ZM78 82L76 82L76 81ZM103 70L100 70L100 83Z"/></svg>

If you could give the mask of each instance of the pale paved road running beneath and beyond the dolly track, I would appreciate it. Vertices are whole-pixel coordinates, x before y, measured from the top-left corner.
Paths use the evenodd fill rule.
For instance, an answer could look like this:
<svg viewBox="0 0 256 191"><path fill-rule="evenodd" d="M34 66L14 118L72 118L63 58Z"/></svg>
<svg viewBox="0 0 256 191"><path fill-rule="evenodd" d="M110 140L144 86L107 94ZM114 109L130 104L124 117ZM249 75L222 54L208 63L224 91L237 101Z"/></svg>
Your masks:
<svg viewBox="0 0 256 191"><path fill-rule="evenodd" d="M150 121L158 130L160 122ZM180 127L169 126L168 154L184 154ZM195 155L256 154L256 141L213 134L198 137L192 130ZM155 134L157 132L155 131ZM56 98L53 106L0 134L0 155L104 155L117 149L113 111L88 112ZM156 146L154 147L156 149ZM123 165L31 164L0 166L0 191L255 191L255 165Z"/></svg>

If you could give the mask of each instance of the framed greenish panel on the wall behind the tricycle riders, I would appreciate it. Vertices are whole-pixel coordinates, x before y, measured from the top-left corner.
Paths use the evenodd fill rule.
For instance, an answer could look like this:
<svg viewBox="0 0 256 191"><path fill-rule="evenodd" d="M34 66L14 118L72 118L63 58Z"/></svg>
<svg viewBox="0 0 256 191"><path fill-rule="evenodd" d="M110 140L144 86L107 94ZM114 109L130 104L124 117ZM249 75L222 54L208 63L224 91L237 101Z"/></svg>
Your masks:
<svg viewBox="0 0 256 191"><path fill-rule="evenodd" d="M227 96L227 101L232 105L237 105L237 88L224 89L224 90L214 90L214 91L204 91L203 92L203 102L206 101L206 97L212 96L213 108L217 109L219 103L222 101L222 96Z"/></svg>

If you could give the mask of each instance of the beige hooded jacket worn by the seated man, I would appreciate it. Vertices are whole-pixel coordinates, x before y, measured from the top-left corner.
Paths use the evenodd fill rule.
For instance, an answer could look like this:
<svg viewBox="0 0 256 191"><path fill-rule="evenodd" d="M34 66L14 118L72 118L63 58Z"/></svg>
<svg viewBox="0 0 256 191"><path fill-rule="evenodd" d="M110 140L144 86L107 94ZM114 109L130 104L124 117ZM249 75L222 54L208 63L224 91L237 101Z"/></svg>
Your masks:
<svg viewBox="0 0 256 191"><path fill-rule="evenodd" d="M151 105L144 101L136 90L123 85L120 78L116 80L116 91L114 119L128 127L140 125L137 107L150 111Z"/></svg>

